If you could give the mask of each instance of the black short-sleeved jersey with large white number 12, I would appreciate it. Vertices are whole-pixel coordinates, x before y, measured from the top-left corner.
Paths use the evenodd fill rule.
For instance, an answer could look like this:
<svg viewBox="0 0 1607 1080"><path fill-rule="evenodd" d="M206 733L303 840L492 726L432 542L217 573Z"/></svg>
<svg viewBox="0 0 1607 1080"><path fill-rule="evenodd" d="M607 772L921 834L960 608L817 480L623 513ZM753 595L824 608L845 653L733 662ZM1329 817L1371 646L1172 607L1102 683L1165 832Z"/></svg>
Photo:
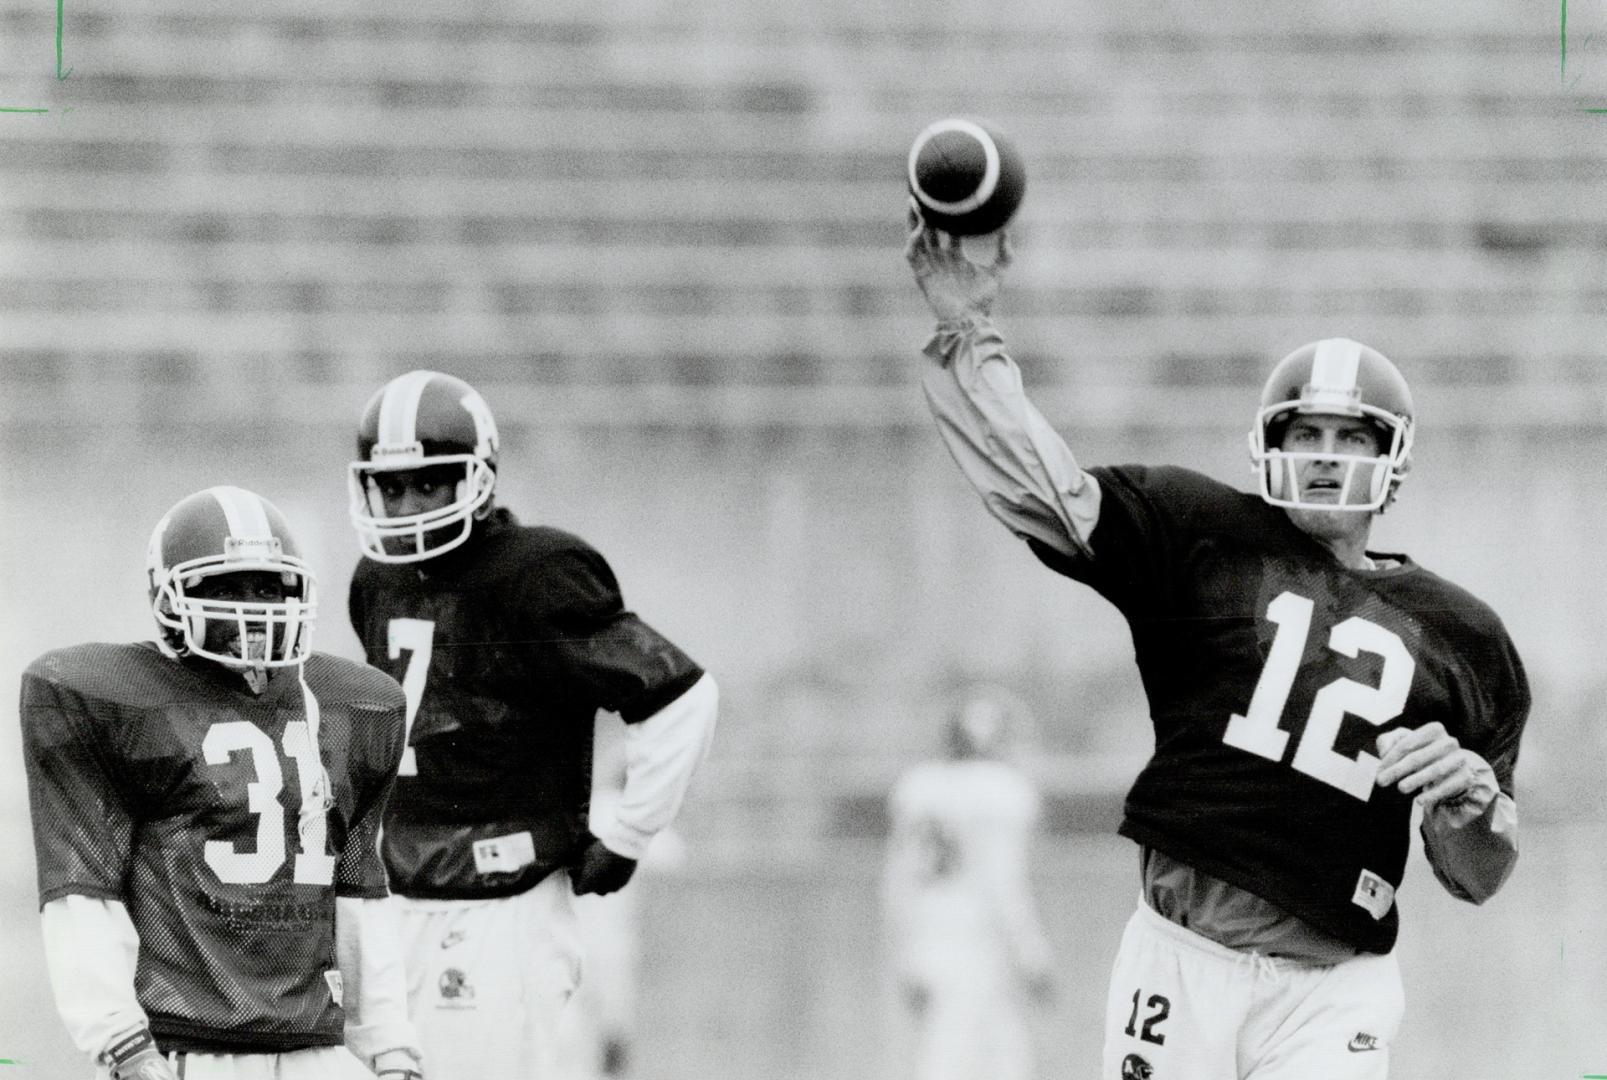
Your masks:
<svg viewBox="0 0 1607 1080"><path fill-rule="evenodd" d="M1528 685L1499 619L1416 566L1340 566L1287 514L1180 468L1094 468L1091 559L1032 542L1114 603L1155 751L1122 834L1363 951L1395 943L1411 799L1376 739L1438 720L1512 794Z"/></svg>

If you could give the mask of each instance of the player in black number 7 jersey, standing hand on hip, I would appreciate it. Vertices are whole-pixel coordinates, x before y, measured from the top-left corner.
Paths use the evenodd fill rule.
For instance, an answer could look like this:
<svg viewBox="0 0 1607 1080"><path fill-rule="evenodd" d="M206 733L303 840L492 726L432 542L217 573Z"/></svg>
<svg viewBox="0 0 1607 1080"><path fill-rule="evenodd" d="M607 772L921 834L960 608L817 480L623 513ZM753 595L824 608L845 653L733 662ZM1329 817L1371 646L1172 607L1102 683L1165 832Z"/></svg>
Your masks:
<svg viewBox="0 0 1607 1080"><path fill-rule="evenodd" d="M382 855L437 1080L548 1075L580 971L572 894L625 886L714 734L714 680L630 612L579 537L493 505L497 424L410 371L363 410L352 627L407 691ZM588 821L598 710L627 725L617 812Z"/></svg>

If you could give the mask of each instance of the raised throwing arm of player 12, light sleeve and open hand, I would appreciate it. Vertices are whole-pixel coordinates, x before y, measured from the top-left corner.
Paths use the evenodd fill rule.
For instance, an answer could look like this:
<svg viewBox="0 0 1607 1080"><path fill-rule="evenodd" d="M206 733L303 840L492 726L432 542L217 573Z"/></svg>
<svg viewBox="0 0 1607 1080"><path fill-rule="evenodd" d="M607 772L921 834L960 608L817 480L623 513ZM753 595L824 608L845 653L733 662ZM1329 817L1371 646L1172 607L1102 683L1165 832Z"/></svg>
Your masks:
<svg viewBox="0 0 1607 1080"><path fill-rule="evenodd" d="M1027 400L1020 370L988 318L1011 264L1006 233L995 260L972 262L963 241L919 219L905 259L937 315L924 389L938 432L995 518L1022 538L1065 556L1086 554L1099 521L1099 484Z"/></svg>

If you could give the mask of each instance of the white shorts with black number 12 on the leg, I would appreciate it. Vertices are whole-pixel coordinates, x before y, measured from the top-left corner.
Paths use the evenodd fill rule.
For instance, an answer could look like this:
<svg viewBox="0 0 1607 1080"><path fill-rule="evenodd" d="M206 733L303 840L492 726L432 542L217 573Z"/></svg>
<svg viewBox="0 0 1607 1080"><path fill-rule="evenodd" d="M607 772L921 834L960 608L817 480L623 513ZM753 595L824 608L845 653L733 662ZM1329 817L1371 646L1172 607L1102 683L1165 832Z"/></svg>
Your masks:
<svg viewBox="0 0 1607 1080"><path fill-rule="evenodd" d="M1395 955L1241 953L1139 902L1106 1003L1102 1080L1384 1080L1405 995Z"/></svg>

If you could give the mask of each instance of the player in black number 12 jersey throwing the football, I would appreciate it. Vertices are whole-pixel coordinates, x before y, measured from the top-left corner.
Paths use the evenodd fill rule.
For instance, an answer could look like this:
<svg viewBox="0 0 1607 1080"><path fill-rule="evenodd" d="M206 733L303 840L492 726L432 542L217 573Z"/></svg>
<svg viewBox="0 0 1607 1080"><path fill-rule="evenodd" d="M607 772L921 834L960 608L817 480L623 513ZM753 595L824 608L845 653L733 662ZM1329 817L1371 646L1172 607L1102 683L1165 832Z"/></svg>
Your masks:
<svg viewBox="0 0 1607 1080"><path fill-rule="evenodd" d="M1377 1078L1400 1024L1395 890L1413 804L1438 881L1478 903L1517 858L1528 685L1499 619L1368 546L1411 463L1382 354L1331 338L1271 373L1258 493L1189 469L1082 468L988 318L1004 268L913 222L938 318L929 405L988 509L1127 617L1155 751L1120 832L1143 903L1102 1075Z"/></svg>

